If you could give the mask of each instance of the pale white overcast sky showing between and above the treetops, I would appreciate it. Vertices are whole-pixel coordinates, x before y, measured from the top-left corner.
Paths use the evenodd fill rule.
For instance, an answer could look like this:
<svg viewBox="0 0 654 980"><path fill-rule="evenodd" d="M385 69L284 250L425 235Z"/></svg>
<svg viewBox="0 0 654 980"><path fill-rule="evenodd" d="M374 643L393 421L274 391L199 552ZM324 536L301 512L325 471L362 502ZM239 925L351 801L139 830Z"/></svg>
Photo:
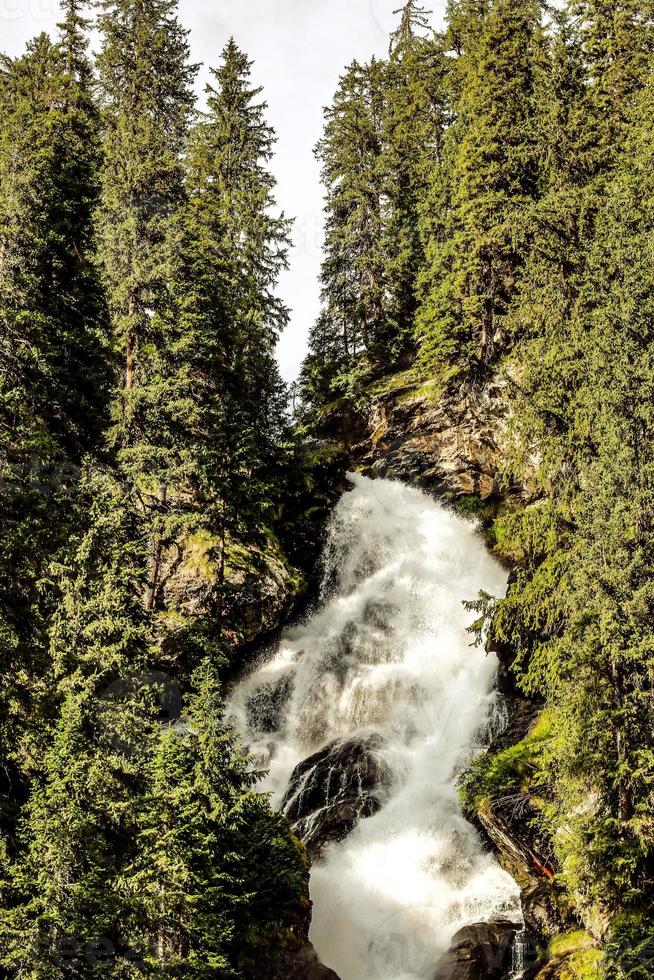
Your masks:
<svg viewBox="0 0 654 980"><path fill-rule="evenodd" d="M268 118L279 142L274 161L277 198L296 218L291 268L280 292L292 310L281 339L282 372L292 380L306 350L319 307L322 191L313 147L321 135L322 108L331 102L338 77L353 59L384 56L402 0L181 0L180 16L191 30L191 53L204 67L216 65L230 35L255 62L253 77L264 86ZM445 0L435 8L441 22ZM0 48L19 54L25 42L57 22L57 0L0 0Z"/></svg>

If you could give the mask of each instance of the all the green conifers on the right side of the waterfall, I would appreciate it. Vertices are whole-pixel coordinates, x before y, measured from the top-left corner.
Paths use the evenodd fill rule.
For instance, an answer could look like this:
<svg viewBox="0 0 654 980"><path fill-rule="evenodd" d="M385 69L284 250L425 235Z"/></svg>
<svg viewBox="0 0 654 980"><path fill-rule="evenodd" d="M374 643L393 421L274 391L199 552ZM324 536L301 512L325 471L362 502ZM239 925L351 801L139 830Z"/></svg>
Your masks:
<svg viewBox="0 0 654 980"><path fill-rule="evenodd" d="M344 76L319 148L328 253L304 396L325 430L399 367L436 390L502 373L503 477L531 502L494 522L514 571L476 625L515 654L550 733L480 760L464 796L546 770L540 817L577 908L651 915L654 20L639 0L546 13L460 0L434 38L408 3L388 62Z"/></svg>

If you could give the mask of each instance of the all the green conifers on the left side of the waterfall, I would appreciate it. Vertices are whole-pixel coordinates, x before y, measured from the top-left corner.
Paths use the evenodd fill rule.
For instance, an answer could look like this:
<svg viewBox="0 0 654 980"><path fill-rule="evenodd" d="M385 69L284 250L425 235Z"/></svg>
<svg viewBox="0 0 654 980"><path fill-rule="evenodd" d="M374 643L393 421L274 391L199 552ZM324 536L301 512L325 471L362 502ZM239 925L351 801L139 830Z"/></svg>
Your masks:
<svg viewBox="0 0 654 980"><path fill-rule="evenodd" d="M233 42L190 131L169 0L100 5L96 104L64 6L0 81L0 969L237 977L309 908L218 676L243 569L303 587L274 134Z"/></svg>

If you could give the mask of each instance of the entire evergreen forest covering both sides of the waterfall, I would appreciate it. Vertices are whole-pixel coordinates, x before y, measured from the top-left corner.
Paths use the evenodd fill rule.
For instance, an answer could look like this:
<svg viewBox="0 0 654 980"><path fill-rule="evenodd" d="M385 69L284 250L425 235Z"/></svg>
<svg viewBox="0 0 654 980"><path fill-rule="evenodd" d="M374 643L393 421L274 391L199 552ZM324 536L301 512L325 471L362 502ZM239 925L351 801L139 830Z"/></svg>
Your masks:
<svg viewBox="0 0 654 980"><path fill-rule="evenodd" d="M267 980L299 942L310 862L226 685L271 576L278 622L315 585L334 418L491 382L529 493L464 502L511 566L478 628L545 736L463 805L527 780L602 937L570 976L654 976L652 0L449 0L438 32L408 0L344 70L295 411L247 53L198 100L176 0L61 7L0 61L0 977Z"/></svg>

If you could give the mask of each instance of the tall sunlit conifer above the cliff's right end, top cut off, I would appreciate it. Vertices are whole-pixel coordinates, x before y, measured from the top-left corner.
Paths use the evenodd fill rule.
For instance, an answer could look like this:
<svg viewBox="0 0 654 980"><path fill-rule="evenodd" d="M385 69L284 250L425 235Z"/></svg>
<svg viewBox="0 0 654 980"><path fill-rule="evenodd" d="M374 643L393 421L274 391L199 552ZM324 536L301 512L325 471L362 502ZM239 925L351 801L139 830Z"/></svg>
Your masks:
<svg viewBox="0 0 654 980"><path fill-rule="evenodd" d="M535 76L540 11L531 0L496 0L477 16L452 12L456 124L444 240L430 268L418 326L421 360L488 366L507 346L506 317L528 252L525 220L538 192Z"/></svg>

